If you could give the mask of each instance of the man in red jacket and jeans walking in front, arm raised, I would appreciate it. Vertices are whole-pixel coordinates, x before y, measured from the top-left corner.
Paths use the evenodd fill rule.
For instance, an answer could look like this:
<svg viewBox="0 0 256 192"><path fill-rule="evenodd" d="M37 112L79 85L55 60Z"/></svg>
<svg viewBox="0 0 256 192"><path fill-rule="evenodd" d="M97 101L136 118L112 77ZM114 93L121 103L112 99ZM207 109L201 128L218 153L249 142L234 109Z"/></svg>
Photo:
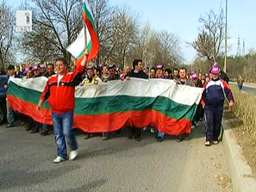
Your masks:
<svg viewBox="0 0 256 192"><path fill-rule="evenodd" d="M74 133L73 126L73 111L75 108L75 86L79 84L79 76L81 76L88 51L84 52L84 59L75 71L67 72L66 59L56 59L57 74L50 77L47 85L41 94L40 101L36 106L36 110L41 110L41 105L48 99L49 105L52 108L53 129L55 134L55 142L57 146L57 158L54 163L60 163L67 158L66 140L71 148L69 159L73 160L78 155L78 143Z"/></svg>

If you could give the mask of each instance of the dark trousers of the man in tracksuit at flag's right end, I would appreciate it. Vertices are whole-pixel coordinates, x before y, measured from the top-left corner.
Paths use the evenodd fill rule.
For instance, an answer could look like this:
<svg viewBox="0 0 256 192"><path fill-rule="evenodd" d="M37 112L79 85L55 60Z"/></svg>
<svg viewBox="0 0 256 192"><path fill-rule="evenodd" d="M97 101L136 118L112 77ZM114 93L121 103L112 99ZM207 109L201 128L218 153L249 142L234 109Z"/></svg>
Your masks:
<svg viewBox="0 0 256 192"><path fill-rule="evenodd" d="M218 140L222 127L223 107L205 106L206 141Z"/></svg>

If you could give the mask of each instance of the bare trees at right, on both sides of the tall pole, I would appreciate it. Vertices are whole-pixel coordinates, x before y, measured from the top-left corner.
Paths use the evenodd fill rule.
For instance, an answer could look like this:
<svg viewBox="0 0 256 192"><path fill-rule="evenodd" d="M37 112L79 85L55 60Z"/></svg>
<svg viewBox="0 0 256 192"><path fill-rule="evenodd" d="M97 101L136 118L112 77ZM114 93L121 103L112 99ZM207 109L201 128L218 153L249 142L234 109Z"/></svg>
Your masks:
<svg viewBox="0 0 256 192"><path fill-rule="evenodd" d="M189 65L189 71L208 73L212 62L221 68L224 65L225 16L223 9L218 13L210 10L201 15L199 33L196 40L187 44L197 51L197 59ZM228 47L230 49L230 47ZM256 83L256 50L250 49L245 56L227 57L229 78L243 77L246 82Z"/></svg>

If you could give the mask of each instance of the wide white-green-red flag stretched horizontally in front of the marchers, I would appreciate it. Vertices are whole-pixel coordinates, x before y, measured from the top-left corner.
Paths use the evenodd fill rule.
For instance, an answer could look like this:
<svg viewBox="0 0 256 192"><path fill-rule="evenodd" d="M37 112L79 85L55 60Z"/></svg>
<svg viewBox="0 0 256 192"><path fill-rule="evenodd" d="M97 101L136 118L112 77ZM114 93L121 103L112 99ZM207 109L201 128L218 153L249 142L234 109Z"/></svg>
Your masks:
<svg viewBox="0 0 256 192"><path fill-rule="evenodd" d="M7 91L10 107L35 121L52 124L47 102L40 112L35 111L46 83L46 77L11 80ZM76 87L74 127L89 133L126 126L153 126L172 135L190 133L202 91L167 79L131 78L107 84L84 84Z"/></svg>

